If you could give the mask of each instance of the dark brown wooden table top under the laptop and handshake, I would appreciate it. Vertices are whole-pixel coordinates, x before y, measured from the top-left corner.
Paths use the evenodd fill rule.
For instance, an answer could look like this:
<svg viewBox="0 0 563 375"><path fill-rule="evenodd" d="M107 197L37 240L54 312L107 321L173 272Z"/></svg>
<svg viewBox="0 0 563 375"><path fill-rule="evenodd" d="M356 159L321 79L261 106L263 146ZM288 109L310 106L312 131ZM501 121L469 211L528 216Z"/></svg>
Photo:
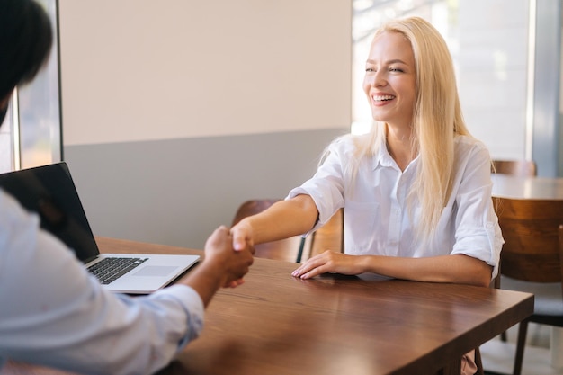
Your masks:
<svg viewBox="0 0 563 375"><path fill-rule="evenodd" d="M98 243L103 252L201 254ZM436 373L533 311L527 293L373 276L302 281L290 275L295 268L256 258L242 286L219 290L211 301L201 337L159 374ZM64 373L18 363L4 371Z"/></svg>

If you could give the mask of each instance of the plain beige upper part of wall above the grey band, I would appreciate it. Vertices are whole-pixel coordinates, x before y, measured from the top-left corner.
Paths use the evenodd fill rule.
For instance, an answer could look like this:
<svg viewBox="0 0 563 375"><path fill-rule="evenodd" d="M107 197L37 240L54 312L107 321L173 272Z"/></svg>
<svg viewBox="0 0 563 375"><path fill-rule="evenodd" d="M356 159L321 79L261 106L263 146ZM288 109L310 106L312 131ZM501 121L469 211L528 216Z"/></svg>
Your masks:
<svg viewBox="0 0 563 375"><path fill-rule="evenodd" d="M65 146L350 125L350 0L60 0Z"/></svg>

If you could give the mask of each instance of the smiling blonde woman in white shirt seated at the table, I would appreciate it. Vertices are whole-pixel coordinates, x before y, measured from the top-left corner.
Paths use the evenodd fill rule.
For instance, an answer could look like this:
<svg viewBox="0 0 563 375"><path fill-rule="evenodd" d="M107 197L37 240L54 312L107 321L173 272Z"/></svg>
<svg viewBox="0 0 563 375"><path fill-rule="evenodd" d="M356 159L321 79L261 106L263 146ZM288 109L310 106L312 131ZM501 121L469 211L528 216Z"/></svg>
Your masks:
<svg viewBox="0 0 563 375"><path fill-rule="evenodd" d="M231 228L235 248L310 233L344 208L344 254L326 249L293 276L373 272L486 287L504 242L491 160L463 121L442 36L417 17L384 25L363 89L371 133L336 139L311 179ZM469 353L462 373L475 370Z"/></svg>

